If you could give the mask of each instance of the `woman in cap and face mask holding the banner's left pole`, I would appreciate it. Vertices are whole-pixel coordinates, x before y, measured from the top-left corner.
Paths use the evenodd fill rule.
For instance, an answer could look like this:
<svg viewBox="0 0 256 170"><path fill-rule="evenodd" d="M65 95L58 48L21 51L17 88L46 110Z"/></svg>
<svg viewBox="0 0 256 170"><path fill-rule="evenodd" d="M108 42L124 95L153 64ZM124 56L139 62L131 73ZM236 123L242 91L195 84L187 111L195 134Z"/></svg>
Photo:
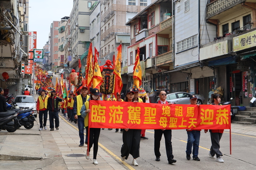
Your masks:
<svg viewBox="0 0 256 170"><path fill-rule="evenodd" d="M88 99L88 101L86 101L82 108L81 108L81 116L84 117L84 126L88 132L88 137L89 137L89 141L88 141L88 145L87 147L89 147L89 152L91 151L91 147L93 146L93 164L97 165L98 162L96 160L96 156L98 153L98 140L100 137L100 128L89 128L89 114L91 112L91 110L89 109L89 100L95 100L95 101L100 101L102 100L100 98L100 91L96 88L94 88L93 90L91 90L91 96L90 99ZM86 154L86 159L90 159L90 156Z"/></svg>

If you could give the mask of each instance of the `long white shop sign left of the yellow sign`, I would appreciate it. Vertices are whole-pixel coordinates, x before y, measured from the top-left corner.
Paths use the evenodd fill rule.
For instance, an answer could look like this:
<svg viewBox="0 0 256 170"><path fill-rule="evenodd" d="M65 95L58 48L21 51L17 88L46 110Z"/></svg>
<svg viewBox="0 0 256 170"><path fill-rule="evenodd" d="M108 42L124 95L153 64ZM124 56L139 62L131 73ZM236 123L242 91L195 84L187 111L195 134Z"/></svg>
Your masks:
<svg viewBox="0 0 256 170"><path fill-rule="evenodd" d="M200 48L200 60L228 54L228 40Z"/></svg>

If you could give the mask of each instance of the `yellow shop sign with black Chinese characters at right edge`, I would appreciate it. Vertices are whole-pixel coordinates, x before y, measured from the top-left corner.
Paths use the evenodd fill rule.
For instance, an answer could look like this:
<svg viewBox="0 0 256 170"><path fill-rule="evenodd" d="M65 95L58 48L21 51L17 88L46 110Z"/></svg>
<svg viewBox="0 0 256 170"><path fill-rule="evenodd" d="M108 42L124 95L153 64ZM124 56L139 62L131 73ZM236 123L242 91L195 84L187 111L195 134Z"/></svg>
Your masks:
<svg viewBox="0 0 256 170"><path fill-rule="evenodd" d="M256 30L233 38L234 52L256 46Z"/></svg>

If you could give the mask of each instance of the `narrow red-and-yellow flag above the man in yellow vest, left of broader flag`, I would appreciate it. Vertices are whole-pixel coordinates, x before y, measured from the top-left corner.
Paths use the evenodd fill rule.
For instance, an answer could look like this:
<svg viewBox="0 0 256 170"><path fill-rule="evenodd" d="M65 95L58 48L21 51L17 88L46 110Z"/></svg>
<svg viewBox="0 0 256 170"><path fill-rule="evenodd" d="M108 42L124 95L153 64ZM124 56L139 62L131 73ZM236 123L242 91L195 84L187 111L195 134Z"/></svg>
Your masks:
<svg viewBox="0 0 256 170"><path fill-rule="evenodd" d="M85 86L91 87L93 83L93 48L90 43L89 51L87 55L87 68L85 69Z"/></svg>

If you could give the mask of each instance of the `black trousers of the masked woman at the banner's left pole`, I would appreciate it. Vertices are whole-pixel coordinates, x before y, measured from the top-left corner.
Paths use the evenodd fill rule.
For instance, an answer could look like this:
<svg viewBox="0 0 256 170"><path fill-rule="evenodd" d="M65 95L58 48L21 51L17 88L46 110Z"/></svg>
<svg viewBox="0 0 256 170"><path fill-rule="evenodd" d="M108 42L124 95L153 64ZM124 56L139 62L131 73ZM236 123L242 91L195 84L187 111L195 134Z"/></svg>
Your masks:
<svg viewBox="0 0 256 170"><path fill-rule="evenodd" d="M88 126L86 127L86 130L88 131ZM100 128L90 128L89 152L91 151L91 147L93 146L93 159L96 159L97 157L99 137Z"/></svg>

